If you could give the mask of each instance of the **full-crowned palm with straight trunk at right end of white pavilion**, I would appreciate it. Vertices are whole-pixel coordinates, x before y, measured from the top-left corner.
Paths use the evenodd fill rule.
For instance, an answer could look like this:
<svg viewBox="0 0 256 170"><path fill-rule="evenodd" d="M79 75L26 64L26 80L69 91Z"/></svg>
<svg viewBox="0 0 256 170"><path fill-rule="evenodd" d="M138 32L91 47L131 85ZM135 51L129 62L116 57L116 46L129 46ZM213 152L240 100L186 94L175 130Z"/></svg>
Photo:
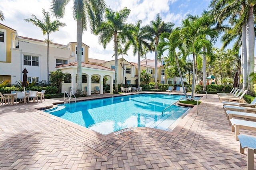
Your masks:
<svg viewBox="0 0 256 170"><path fill-rule="evenodd" d="M125 23L130 10L126 7L118 12L114 12L110 8L106 8L105 18L106 21L102 22L100 27L95 31L97 35L100 35L99 42L103 45L104 49L106 45L114 39L114 51L115 51L115 93L118 93L118 42L124 42L126 39L133 41L132 31L134 26L132 24Z"/></svg>

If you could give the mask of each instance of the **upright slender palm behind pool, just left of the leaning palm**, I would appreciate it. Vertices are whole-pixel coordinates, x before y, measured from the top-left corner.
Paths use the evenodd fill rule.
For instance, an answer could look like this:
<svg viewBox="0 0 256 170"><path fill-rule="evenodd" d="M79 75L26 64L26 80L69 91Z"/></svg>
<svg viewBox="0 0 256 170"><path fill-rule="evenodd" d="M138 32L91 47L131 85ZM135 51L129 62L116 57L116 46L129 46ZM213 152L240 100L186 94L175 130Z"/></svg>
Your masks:
<svg viewBox="0 0 256 170"><path fill-rule="evenodd" d="M160 17L160 14L156 15L156 20L150 21L150 25L146 25L144 29L150 33L154 39L154 44L155 44L155 89L158 89L158 84L157 84L157 61L158 61L158 51L157 51L157 46L159 42L159 37L162 33L168 32L171 33L173 29L174 23L167 22L164 23L162 18Z"/></svg>

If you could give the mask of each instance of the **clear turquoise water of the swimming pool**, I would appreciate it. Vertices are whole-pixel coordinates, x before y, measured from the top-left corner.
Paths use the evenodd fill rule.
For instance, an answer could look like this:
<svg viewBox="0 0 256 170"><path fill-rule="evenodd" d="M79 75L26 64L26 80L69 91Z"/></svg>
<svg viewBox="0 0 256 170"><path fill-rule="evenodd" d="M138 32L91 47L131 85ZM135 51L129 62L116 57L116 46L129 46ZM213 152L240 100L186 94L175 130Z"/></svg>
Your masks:
<svg viewBox="0 0 256 170"><path fill-rule="evenodd" d="M89 100L66 106L64 111L49 112L102 134L128 127L168 129L188 108L170 106L184 96L166 94L135 94L114 98Z"/></svg>

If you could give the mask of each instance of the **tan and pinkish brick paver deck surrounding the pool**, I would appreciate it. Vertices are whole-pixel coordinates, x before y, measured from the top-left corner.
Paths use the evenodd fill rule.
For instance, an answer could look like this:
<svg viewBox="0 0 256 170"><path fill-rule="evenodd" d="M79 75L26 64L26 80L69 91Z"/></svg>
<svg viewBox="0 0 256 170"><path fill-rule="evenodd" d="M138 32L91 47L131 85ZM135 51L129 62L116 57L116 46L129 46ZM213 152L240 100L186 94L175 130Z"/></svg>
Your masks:
<svg viewBox="0 0 256 170"><path fill-rule="evenodd" d="M246 169L218 97L201 101L199 114L193 108L171 132L136 127L117 135L35 109L57 99L1 106L0 169Z"/></svg>

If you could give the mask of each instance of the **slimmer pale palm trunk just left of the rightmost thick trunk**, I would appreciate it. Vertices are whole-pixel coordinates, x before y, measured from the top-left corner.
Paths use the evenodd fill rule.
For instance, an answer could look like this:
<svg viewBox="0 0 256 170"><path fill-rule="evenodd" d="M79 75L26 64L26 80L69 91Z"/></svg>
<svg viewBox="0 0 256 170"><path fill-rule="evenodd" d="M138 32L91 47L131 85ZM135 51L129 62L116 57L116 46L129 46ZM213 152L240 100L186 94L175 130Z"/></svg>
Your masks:
<svg viewBox="0 0 256 170"><path fill-rule="evenodd" d="M243 90L248 87L247 52L246 52L246 24L242 27L242 67L243 67Z"/></svg>

